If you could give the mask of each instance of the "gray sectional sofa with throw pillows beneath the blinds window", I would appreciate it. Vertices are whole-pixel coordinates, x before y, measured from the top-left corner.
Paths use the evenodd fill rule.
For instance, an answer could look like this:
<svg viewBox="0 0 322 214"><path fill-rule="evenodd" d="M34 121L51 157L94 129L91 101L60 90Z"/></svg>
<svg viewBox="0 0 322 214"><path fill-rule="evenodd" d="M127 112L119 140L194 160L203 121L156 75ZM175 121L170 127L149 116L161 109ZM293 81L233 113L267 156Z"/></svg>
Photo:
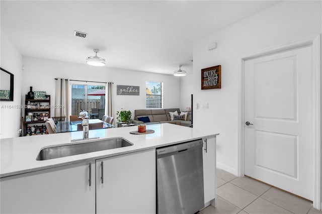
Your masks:
<svg viewBox="0 0 322 214"><path fill-rule="evenodd" d="M156 124L156 123L171 123L181 126L190 127L191 126L191 113L188 112L187 120L171 120L169 112L177 111L180 115L180 109L142 109L134 111L134 120L132 123L135 125L143 124L144 122L139 121L138 118L148 117L150 122L145 124Z"/></svg>

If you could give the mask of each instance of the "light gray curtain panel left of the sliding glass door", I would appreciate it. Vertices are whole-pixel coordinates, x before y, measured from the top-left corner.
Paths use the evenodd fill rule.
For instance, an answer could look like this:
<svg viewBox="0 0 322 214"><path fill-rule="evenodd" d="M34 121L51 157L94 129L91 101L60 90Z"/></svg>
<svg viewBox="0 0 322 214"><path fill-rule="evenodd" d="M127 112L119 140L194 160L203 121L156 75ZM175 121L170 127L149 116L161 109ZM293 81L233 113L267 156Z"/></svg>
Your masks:
<svg viewBox="0 0 322 214"><path fill-rule="evenodd" d="M69 79L57 78L55 89L55 117L65 116L69 120L70 94Z"/></svg>

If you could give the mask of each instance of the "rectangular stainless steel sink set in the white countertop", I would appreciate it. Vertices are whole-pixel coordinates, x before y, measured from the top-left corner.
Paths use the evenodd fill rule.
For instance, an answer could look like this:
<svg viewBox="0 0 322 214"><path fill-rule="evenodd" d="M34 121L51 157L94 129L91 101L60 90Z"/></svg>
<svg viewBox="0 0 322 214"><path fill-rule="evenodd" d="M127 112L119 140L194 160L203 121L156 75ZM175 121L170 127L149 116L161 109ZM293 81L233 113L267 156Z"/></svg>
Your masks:
<svg viewBox="0 0 322 214"><path fill-rule="evenodd" d="M108 149L116 149L132 145L132 143L122 138L113 138L94 142L55 146L40 150L36 160L49 160L54 158L61 158Z"/></svg>

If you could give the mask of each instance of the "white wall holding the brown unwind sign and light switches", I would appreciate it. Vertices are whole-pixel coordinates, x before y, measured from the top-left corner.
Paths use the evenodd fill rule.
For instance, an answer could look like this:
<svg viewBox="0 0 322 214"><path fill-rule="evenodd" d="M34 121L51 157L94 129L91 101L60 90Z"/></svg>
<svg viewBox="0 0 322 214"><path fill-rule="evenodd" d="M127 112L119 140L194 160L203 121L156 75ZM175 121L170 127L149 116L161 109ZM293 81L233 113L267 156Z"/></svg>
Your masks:
<svg viewBox="0 0 322 214"><path fill-rule="evenodd" d="M285 1L195 42L193 74L182 78L181 95L187 97L193 91L194 103L209 103L209 109L196 110L194 106L194 127L220 133L217 138L219 168L237 174L241 59L319 33L321 2ZM218 48L208 51L213 42L218 43ZM201 69L219 64L221 89L201 90Z"/></svg>

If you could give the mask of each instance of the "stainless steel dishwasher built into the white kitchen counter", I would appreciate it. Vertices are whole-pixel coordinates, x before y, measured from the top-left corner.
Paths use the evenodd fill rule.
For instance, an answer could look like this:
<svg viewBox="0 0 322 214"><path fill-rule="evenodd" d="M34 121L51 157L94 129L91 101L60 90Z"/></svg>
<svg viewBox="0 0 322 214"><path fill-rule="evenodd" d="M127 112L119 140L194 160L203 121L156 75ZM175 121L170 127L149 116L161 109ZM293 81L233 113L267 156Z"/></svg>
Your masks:
<svg viewBox="0 0 322 214"><path fill-rule="evenodd" d="M157 213L192 214L204 207L202 140L156 149Z"/></svg>

